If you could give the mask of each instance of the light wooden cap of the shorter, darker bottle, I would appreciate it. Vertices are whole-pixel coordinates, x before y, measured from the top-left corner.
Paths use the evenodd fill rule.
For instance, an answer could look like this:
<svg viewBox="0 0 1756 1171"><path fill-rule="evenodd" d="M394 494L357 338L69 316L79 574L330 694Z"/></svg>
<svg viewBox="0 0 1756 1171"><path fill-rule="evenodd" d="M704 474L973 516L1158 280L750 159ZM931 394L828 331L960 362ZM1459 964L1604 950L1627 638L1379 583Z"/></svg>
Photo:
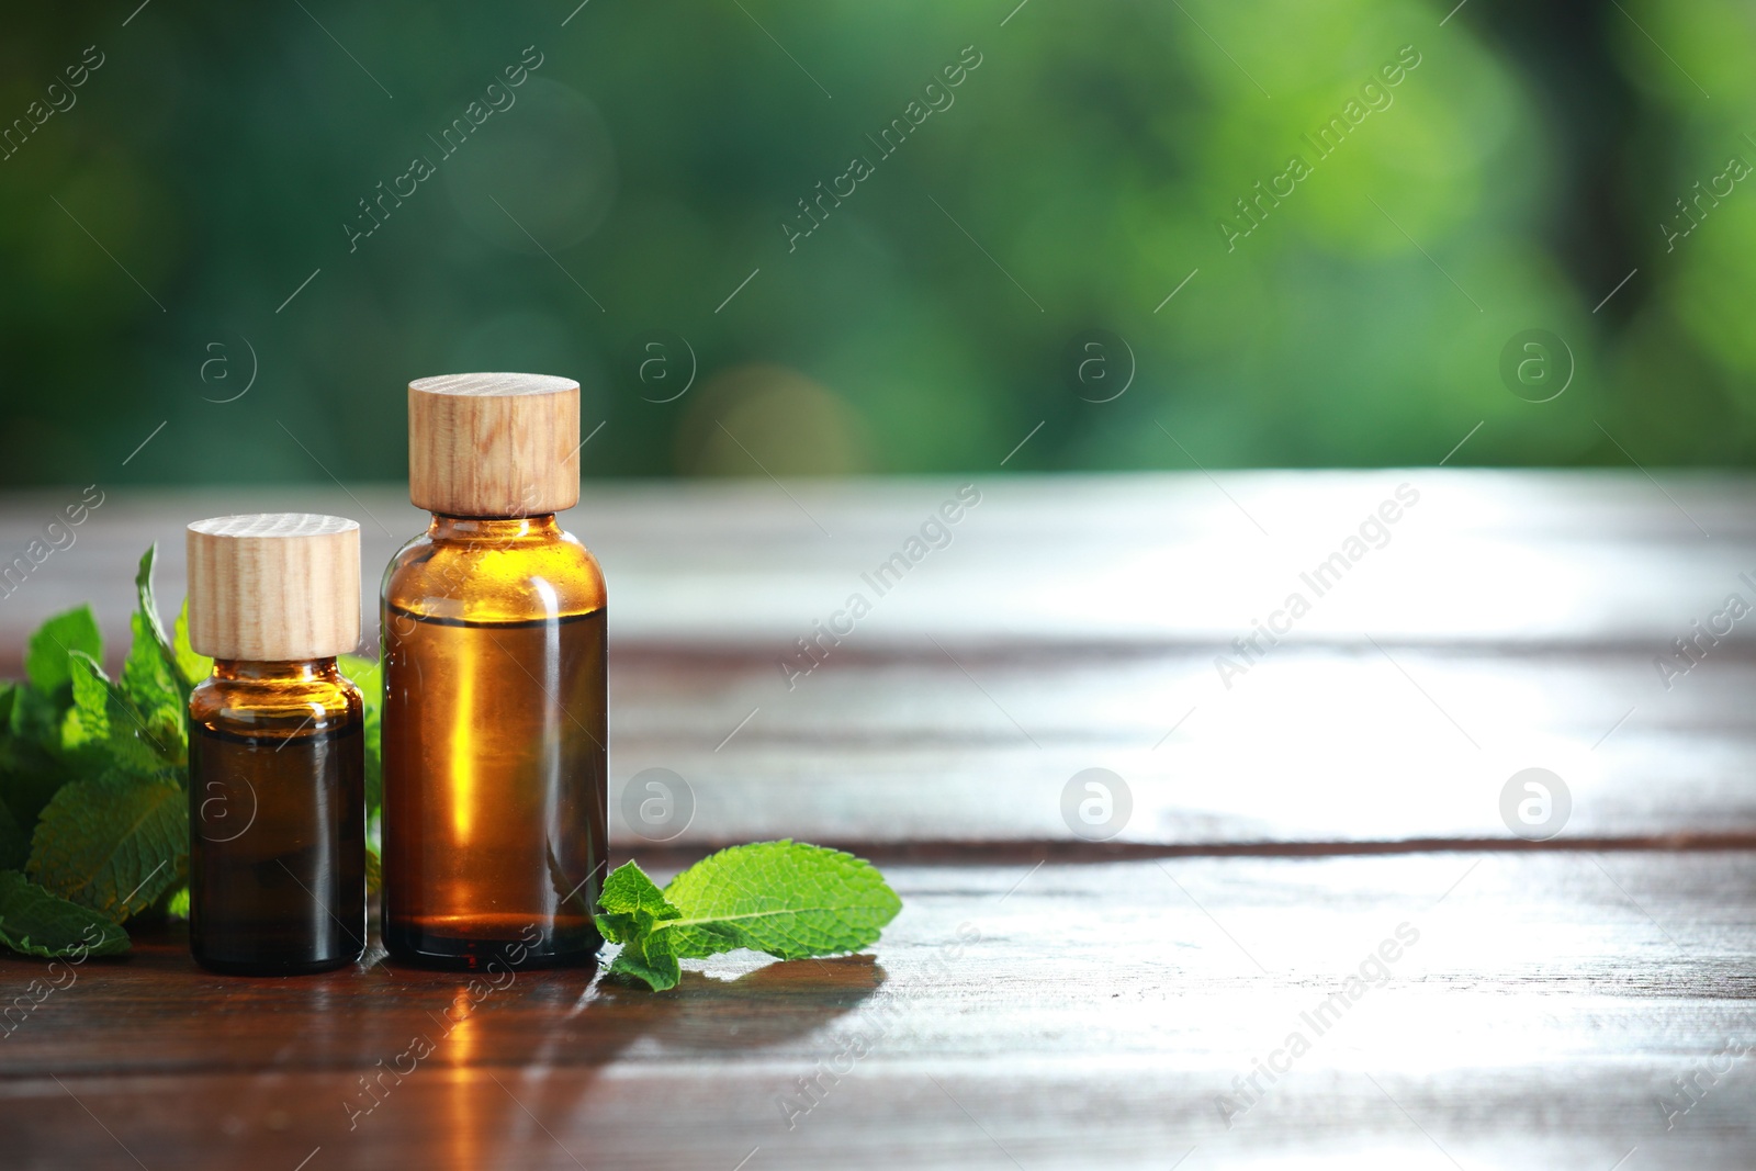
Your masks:
<svg viewBox="0 0 1756 1171"><path fill-rule="evenodd" d="M360 525L311 513L188 530L190 646L212 658L328 658L360 644Z"/></svg>

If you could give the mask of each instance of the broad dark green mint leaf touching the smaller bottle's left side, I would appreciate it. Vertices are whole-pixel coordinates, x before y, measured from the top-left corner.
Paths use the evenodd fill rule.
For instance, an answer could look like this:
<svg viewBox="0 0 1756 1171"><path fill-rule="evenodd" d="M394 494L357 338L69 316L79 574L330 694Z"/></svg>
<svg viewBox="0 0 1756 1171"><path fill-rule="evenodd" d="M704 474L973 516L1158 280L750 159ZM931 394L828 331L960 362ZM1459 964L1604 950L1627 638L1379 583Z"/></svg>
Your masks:
<svg viewBox="0 0 1756 1171"><path fill-rule="evenodd" d="M32 878L123 922L184 880L190 804L174 772L105 776L61 787L32 836Z"/></svg>

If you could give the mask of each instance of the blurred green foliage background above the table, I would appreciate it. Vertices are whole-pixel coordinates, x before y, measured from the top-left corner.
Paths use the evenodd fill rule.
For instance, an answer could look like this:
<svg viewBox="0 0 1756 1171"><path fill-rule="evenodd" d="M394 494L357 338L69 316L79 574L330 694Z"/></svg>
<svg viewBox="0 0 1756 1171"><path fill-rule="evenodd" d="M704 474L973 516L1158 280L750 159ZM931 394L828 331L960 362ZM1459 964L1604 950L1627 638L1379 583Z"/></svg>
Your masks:
<svg viewBox="0 0 1756 1171"><path fill-rule="evenodd" d="M1756 458L1747 2L1015 4L16 7L0 481L393 479L474 369L587 476Z"/></svg>

